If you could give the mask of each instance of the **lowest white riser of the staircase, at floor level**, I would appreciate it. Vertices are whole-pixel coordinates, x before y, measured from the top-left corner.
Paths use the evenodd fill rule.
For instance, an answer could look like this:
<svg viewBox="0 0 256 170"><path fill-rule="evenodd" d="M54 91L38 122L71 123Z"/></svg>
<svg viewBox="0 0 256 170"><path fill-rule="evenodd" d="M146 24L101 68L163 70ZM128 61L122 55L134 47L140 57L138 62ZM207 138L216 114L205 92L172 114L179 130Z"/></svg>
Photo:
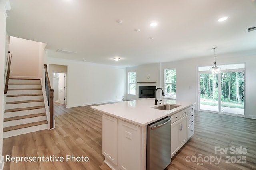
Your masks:
<svg viewBox="0 0 256 170"><path fill-rule="evenodd" d="M20 134L26 134L26 133L30 133L30 132L36 132L39 130L44 130L48 128L48 124L41 124L41 125L37 125L37 126L32 126L32 127L28 127L28 128L22 128L22 129L17 129L17 130L10 130L7 132L3 133L3 138L8 138L11 136L17 136Z"/></svg>

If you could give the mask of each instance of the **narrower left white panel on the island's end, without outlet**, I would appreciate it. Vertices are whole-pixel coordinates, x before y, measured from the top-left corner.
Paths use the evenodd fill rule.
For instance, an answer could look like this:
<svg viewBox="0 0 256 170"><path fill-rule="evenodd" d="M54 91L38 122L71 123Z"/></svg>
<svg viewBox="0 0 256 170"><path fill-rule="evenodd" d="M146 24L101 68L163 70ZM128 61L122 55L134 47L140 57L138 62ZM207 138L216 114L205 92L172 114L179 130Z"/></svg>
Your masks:
<svg viewBox="0 0 256 170"><path fill-rule="evenodd" d="M117 119L102 115L102 154L117 165Z"/></svg>

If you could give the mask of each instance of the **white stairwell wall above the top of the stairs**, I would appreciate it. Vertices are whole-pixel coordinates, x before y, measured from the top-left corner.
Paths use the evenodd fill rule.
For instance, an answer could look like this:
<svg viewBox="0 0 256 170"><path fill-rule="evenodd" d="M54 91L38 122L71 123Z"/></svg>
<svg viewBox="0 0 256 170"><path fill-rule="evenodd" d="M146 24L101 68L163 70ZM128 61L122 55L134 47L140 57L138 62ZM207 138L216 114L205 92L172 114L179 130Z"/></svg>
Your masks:
<svg viewBox="0 0 256 170"><path fill-rule="evenodd" d="M46 44L10 37L10 78L41 78Z"/></svg>

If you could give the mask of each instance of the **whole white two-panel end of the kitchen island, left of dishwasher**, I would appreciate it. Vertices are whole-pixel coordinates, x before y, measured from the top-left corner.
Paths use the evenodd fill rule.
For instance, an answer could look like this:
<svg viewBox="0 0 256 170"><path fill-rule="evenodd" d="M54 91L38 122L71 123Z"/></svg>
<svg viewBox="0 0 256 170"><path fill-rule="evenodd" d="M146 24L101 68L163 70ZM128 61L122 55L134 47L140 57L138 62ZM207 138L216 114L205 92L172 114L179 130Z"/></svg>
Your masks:
<svg viewBox="0 0 256 170"><path fill-rule="evenodd" d="M146 170L146 126L103 114L102 153L113 170Z"/></svg>

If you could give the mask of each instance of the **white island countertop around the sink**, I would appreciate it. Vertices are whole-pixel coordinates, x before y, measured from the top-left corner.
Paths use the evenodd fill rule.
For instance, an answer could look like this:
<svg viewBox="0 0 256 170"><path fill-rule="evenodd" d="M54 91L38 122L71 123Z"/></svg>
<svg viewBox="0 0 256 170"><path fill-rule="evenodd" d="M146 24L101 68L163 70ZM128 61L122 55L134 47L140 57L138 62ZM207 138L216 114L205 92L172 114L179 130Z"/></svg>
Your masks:
<svg viewBox="0 0 256 170"><path fill-rule="evenodd" d="M189 106L194 105L192 102L182 102L176 100L167 100L161 99L162 104L176 104L180 105L177 108L172 110L159 110L154 109L152 107L156 107L155 98L147 98L141 100L132 100L132 101L122 101L113 104L104 104L99 106L92 106L91 108L94 110L98 110L103 114L120 118L127 122L139 125L146 126L156 120L160 120L166 116L172 115L176 112L183 110L184 108L188 108ZM159 103L159 102L158 102ZM158 104L157 106L160 106Z"/></svg>

